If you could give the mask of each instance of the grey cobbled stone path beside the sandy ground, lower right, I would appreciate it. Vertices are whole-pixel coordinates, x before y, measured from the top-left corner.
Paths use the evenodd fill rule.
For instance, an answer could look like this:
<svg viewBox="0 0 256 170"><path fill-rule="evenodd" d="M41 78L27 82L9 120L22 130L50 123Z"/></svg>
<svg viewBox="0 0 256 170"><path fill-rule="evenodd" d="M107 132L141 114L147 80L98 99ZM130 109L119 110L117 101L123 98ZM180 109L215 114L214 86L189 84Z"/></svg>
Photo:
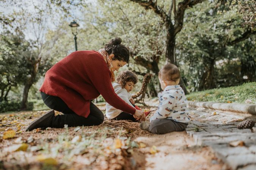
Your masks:
<svg viewBox="0 0 256 170"><path fill-rule="evenodd" d="M196 144L210 146L216 156L234 170L256 170L256 127L237 129L237 124L250 114L238 114L190 107L192 121L187 133ZM244 142L232 147L230 142Z"/></svg>

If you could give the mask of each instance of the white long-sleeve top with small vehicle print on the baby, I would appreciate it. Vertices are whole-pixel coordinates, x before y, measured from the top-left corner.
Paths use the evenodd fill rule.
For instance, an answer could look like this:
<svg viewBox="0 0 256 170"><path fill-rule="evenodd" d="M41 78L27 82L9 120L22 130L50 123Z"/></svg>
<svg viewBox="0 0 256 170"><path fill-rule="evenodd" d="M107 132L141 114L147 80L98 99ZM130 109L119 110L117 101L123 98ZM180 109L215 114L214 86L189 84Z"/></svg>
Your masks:
<svg viewBox="0 0 256 170"><path fill-rule="evenodd" d="M157 96L160 104L150 122L155 119L171 119L186 124L189 122L187 99L180 85L167 86Z"/></svg>

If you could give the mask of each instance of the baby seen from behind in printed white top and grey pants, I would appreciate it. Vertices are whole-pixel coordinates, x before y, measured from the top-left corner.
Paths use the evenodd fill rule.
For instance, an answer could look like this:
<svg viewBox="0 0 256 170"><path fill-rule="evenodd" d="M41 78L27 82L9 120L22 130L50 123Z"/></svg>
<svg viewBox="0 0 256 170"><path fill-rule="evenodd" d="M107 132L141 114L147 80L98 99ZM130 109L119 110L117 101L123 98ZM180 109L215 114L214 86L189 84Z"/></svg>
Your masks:
<svg viewBox="0 0 256 170"><path fill-rule="evenodd" d="M151 133L164 134L183 131L188 125L187 99L180 87L180 72L176 65L166 64L159 71L162 92L158 94L160 104L150 118L150 122L141 122L140 128Z"/></svg>

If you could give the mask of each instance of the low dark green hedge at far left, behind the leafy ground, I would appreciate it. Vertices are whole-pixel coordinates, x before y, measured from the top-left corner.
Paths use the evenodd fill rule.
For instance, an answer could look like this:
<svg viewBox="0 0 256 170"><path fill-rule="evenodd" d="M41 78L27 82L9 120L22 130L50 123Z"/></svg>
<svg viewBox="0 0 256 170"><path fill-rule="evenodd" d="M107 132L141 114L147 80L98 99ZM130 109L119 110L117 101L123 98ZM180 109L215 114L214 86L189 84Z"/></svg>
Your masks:
<svg viewBox="0 0 256 170"><path fill-rule="evenodd" d="M0 102L0 113L7 112L7 111L20 111L21 102L12 101L2 101ZM28 102L27 110L33 110L33 102Z"/></svg>

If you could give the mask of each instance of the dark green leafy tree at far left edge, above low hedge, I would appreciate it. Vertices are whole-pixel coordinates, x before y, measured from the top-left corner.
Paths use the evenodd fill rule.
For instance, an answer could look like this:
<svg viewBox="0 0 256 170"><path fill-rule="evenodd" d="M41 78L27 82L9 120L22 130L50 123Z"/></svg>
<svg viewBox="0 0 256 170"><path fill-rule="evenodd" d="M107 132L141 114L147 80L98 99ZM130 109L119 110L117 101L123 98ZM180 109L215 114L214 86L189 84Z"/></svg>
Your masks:
<svg viewBox="0 0 256 170"><path fill-rule="evenodd" d="M0 35L0 101L8 100L9 90L27 78L25 57L29 43L21 32L6 31Z"/></svg>

